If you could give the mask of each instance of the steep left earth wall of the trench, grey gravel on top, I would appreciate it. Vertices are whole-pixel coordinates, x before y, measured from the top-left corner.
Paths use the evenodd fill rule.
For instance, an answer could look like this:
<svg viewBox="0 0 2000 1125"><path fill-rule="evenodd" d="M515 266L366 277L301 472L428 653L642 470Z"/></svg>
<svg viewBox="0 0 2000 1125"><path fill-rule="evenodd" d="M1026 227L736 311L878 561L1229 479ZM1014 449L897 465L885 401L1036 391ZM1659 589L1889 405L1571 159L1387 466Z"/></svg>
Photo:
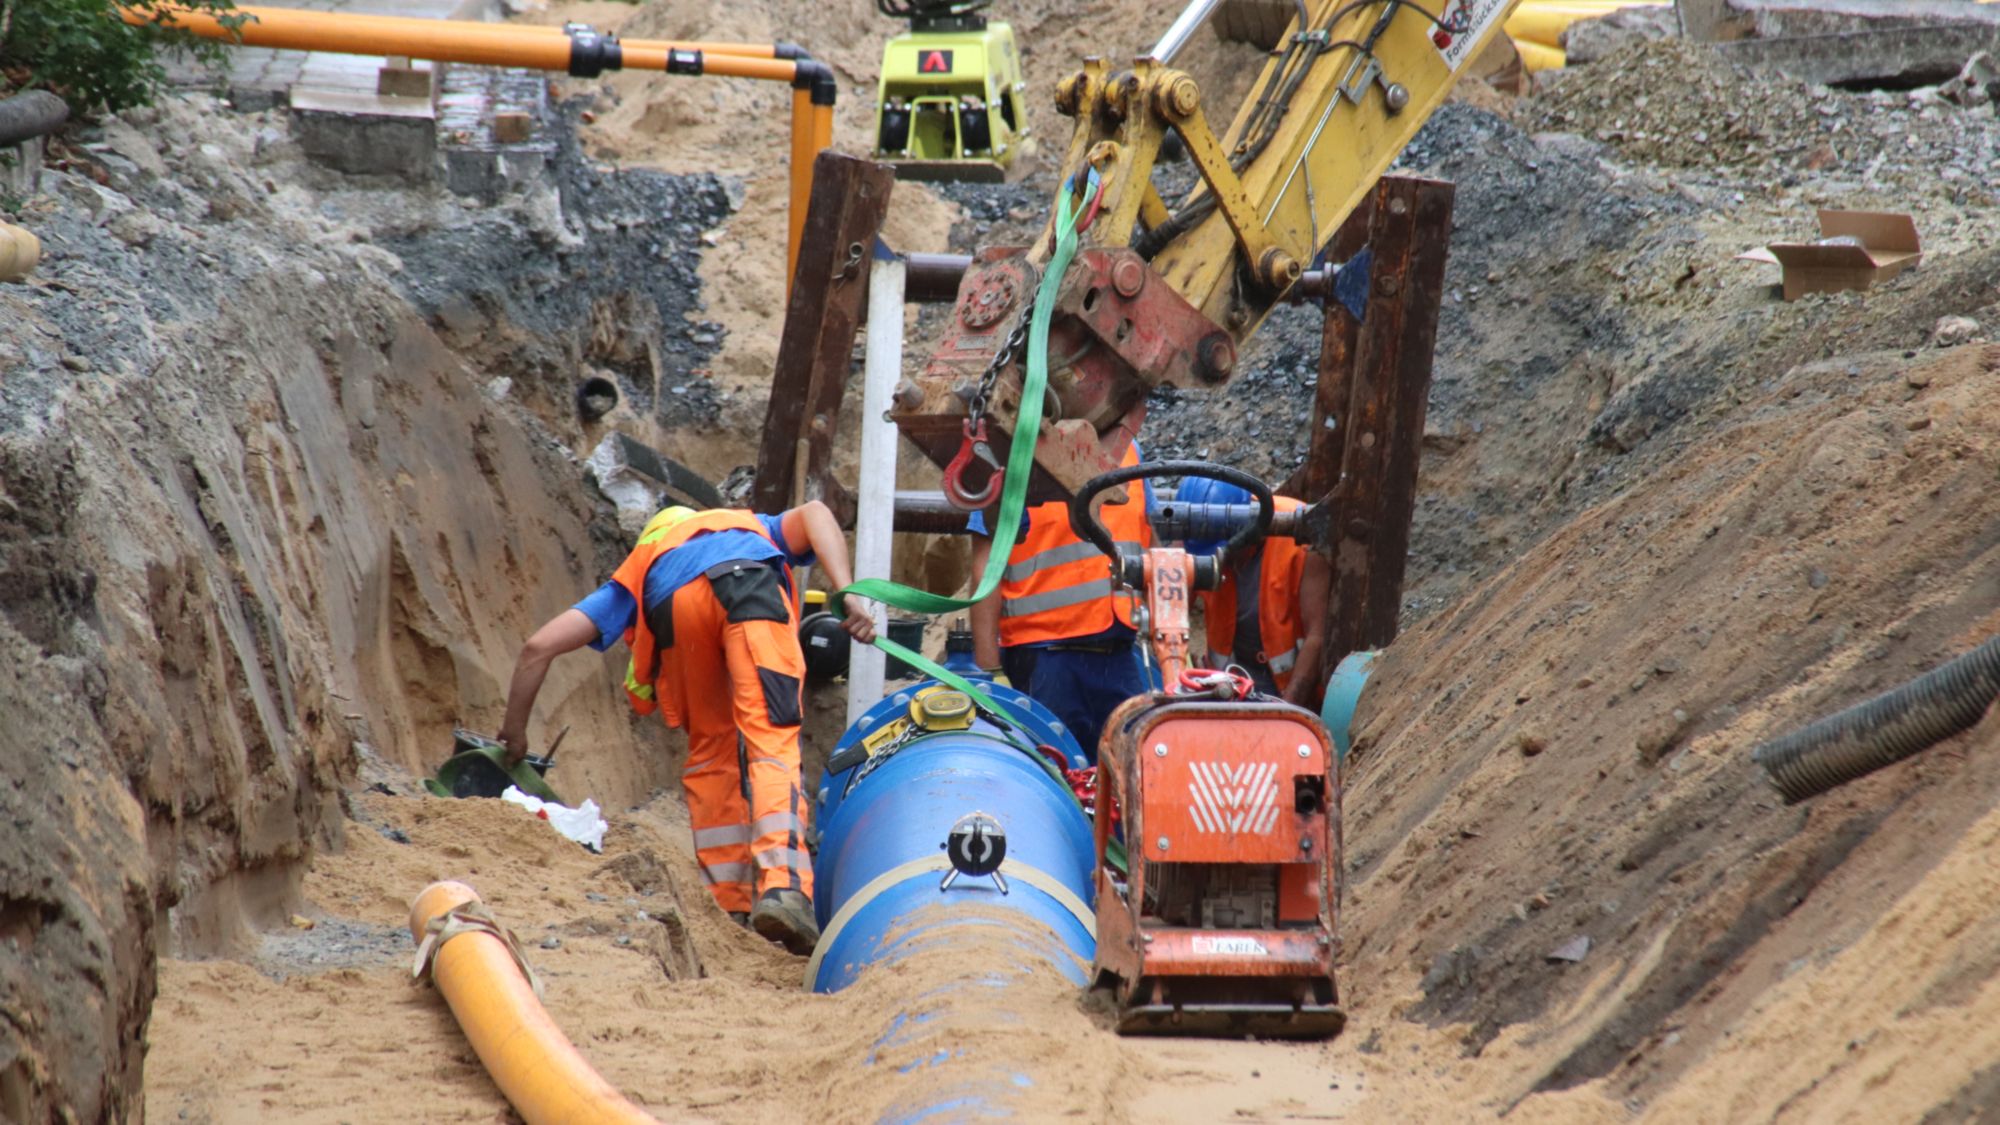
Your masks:
<svg viewBox="0 0 2000 1125"><path fill-rule="evenodd" d="M342 184L258 118L144 124L84 140L154 174L48 180L20 218L50 260L0 286L8 1121L136 1117L156 955L282 925L306 859L342 845L342 789L372 759L428 771L454 723L498 727L522 637L616 544L558 440L562 346L548 386L474 368L400 294L404 258L328 220ZM458 218L548 290L572 252L622 252L538 236L564 224L552 196ZM400 206L406 252L462 236L448 198ZM500 332L510 276L484 284ZM570 665L538 709L544 745L572 727L554 781L644 801L668 759L634 741L658 735Z"/></svg>

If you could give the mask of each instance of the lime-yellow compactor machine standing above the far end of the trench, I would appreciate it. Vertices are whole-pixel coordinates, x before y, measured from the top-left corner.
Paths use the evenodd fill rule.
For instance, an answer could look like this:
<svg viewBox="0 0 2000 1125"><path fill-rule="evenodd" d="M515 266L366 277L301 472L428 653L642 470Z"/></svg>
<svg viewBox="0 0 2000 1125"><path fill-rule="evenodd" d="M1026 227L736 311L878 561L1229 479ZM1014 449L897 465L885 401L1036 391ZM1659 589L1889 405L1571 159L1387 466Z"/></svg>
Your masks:
<svg viewBox="0 0 2000 1125"><path fill-rule="evenodd" d="M1014 28L920 20L882 52L874 156L904 180L998 184L1032 152L1024 90Z"/></svg>

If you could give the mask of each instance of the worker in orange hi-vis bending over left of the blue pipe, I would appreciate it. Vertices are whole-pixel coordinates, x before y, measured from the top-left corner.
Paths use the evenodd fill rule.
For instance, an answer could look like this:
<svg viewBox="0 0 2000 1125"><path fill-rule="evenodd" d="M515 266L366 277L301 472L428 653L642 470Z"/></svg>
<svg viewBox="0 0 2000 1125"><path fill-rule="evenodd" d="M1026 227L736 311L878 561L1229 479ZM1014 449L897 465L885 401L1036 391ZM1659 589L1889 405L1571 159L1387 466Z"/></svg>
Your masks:
<svg viewBox="0 0 2000 1125"><path fill-rule="evenodd" d="M522 647L500 729L508 761L526 757L550 661L622 639L632 709L688 731L682 785L708 891L794 953L820 937L798 777L806 657L792 567L804 565L822 567L836 589L854 579L848 540L818 500L778 516L660 510L608 583ZM872 641L868 605L846 605L846 631Z"/></svg>

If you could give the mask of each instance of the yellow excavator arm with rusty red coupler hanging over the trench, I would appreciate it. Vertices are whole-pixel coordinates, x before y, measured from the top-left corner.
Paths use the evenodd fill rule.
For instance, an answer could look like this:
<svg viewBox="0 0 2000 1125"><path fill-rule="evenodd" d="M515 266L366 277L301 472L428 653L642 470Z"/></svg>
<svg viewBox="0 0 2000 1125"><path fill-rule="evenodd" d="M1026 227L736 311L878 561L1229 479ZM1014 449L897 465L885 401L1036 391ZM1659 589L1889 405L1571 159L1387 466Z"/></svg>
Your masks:
<svg viewBox="0 0 2000 1125"><path fill-rule="evenodd" d="M1196 0L1144 56L1090 58L1056 88L1076 126L1064 188L1098 198L1050 322L1048 398L1030 498L1118 464L1122 420L1162 382L1216 386L1236 348L1284 298L1452 84L1500 34L1516 0L1298 0L1228 130L1172 60L1218 6ZM1168 132L1202 182L1178 204L1154 186ZM940 466L964 464L968 416L1000 458L1020 408L1018 332L1054 248L974 256L950 326L892 416ZM1016 346L1008 348L1010 336ZM994 356L1006 350L998 368ZM946 494L954 494L948 468Z"/></svg>

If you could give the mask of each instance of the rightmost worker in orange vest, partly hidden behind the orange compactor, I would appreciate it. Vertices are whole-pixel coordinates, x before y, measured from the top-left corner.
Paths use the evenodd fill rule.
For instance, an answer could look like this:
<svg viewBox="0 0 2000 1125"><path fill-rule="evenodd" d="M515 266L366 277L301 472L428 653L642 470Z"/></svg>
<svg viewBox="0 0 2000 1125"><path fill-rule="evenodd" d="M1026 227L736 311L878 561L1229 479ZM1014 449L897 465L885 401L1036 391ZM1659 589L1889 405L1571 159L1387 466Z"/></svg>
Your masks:
<svg viewBox="0 0 2000 1125"><path fill-rule="evenodd" d="M1250 490L1208 476L1188 476L1174 498L1186 504L1248 504ZM1280 512L1304 502L1276 498ZM1214 554L1220 542L1188 542L1192 554ZM1318 707L1326 675L1326 597L1334 571L1312 550L1282 536L1268 536L1224 565L1214 591L1204 591L1208 665L1238 665L1266 695Z"/></svg>

